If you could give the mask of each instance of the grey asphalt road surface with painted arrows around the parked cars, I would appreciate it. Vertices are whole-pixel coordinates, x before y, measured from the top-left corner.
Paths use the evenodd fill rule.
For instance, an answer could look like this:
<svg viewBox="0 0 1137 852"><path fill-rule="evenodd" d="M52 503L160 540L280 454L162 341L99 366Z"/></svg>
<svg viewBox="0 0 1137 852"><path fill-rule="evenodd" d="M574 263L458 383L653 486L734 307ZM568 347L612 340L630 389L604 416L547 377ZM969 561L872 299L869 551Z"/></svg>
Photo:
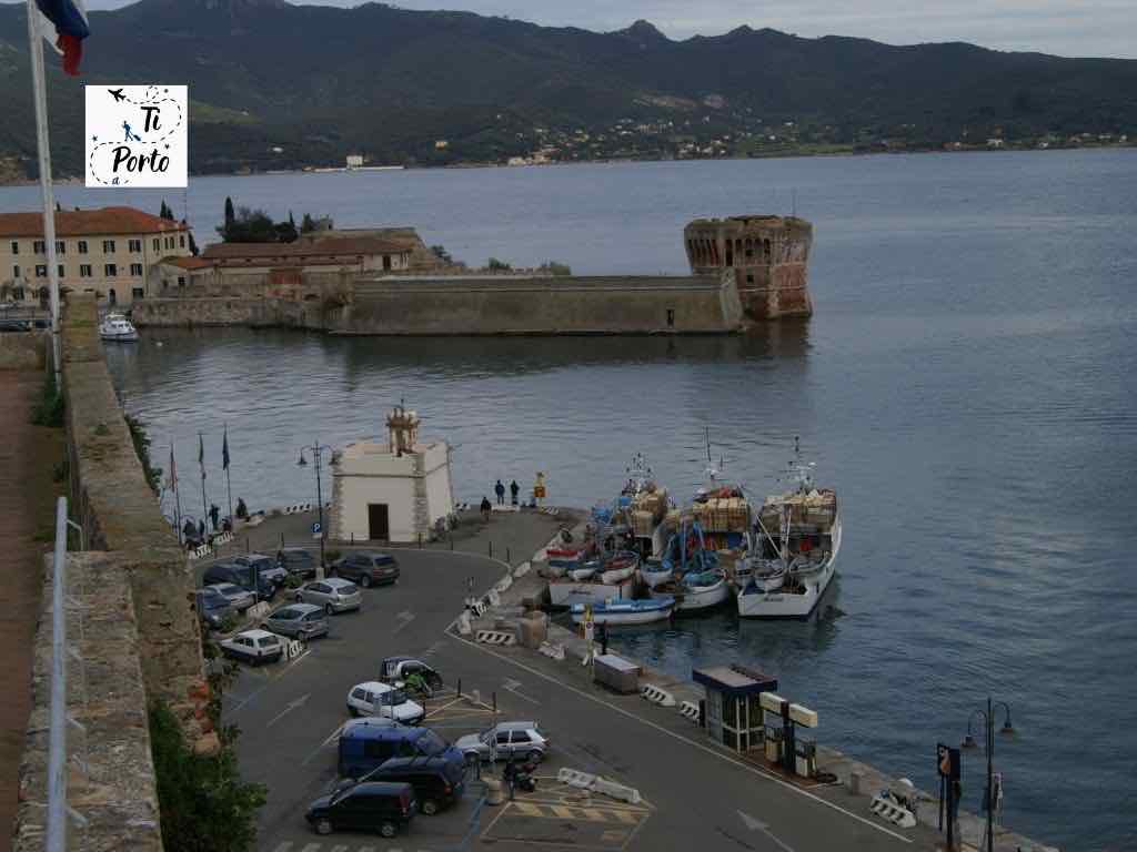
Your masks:
<svg viewBox="0 0 1137 852"><path fill-rule="evenodd" d="M267 852L384 850L575 849L812 850L931 849L935 835L896 829L863 810L839 787L800 790L709 744L673 709L590 685L574 663L521 649L478 645L447 633L462 609L467 578L478 590L503 567L484 557L402 551L398 585L365 591L359 613L332 619L331 635L287 663L247 669L225 700L225 719L242 730L241 765L268 786L259 847ZM428 704L428 724L446 738L499 719L537 719L553 737L554 757L533 795L489 807L472 780L462 804L417 817L392 841L377 836L317 837L304 821L314 797L335 776L335 736L347 719L345 698L372 679L383 657L429 659L448 685L462 678L481 705L453 698ZM568 668L573 667L573 668ZM601 774L640 791L645 803L581 796L558 785L556 769Z"/></svg>

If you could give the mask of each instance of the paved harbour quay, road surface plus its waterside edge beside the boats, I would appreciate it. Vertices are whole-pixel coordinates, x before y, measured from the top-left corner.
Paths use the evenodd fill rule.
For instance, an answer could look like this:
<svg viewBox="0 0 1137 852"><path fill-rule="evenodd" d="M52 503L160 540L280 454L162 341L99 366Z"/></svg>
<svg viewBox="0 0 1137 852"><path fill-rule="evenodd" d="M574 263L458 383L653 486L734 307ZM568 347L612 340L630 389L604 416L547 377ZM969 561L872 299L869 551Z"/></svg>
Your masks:
<svg viewBox="0 0 1137 852"><path fill-rule="evenodd" d="M282 543L313 546L315 517L314 511L269 516L239 529L218 557L247 549L272 553ZM302 659L312 658L315 663L293 661L267 676L242 673L236 691L226 699L226 718L244 732L242 767L250 777L271 785L269 803L262 816L260 849L317 852L308 845L310 835L296 820L296 812L306 796L317 794L321 784L330 784L334 777L334 735L342 724L342 694L352 678L363 679L365 671L351 646L365 635L375 643L375 658L418 655L442 673L447 692L437 708L428 703L425 724L447 738L481 729L492 719L532 718L554 742L554 757L540 767L537 793L518 794L500 808L479 804L481 793L476 790L467 793L471 801L462 807L414 826L414 847L445 849L459 838L487 849L512 842L614 852L695 845L795 852L945 847L944 835L936 830L933 796L919 793L919 824L901 828L869 807L879 791L903 790L899 779L840 751L818 746L818 771L824 780L815 780L771 767L761 751L738 754L714 743L697 721L680 712L682 702L705 698L703 687L690 680L632 660L640 669L638 687L662 690L674 705L661 707L638 694L616 694L594 683L591 668L582 665L588 653L584 640L555 621L548 624L546 642L564 651L561 660L517 641L507 645L479 643L479 630L520 635L524 604L543 592L537 557L559 538L564 526L580 541L587 517L587 512L573 509L523 509L493 511L484 523L476 512L468 512L453 540L447 535L421 546L383 544L382 549L400 561L402 578L390 590L372 591L374 604L368 599L358 618L337 617L333 636L307 648ZM326 546L346 551L379 545L327 542ZM480 617L466 615L468 610L464 613L471 578L485 607ZM465 630L467 618L470 629ZM786 684L783 691L791 695L792 684ZM291 720L285 717L268 730L268 722L282 708L305 696L304 713ZM825 708L816 709L823 730ZM317 776L319 784L289 771L297 762ZM563 768L600 775L633 788L644 804L575 790L557 779ZM478 786L471 784L472 790ZM960 812L962 849L977 847L982 825L981 817ZM833 845L835 837L843 838L838 845ZM343 852L355 849L348 845ZM1002 827L996 835L996 852L1046 849ZM323 852L323 846L318 850Z"/></svg>

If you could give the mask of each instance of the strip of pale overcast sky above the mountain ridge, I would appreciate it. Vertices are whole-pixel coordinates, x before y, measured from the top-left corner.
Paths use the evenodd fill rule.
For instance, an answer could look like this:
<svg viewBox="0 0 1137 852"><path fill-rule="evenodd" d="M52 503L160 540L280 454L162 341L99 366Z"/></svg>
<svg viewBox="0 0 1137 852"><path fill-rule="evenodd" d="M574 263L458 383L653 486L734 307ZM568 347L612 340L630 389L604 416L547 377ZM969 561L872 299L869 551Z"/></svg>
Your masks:
<svg viewBox="0 0 1137 852"><path fill-rule="evenodd" d="M401 0L393 5L599 31L621 30L646 18L672 39L717 35L749 24L811 37L856 35L890 44L966 41L998 50L1137 59L1137 0ZM125 0L88 0L91 9L121 6Z"/></svg>

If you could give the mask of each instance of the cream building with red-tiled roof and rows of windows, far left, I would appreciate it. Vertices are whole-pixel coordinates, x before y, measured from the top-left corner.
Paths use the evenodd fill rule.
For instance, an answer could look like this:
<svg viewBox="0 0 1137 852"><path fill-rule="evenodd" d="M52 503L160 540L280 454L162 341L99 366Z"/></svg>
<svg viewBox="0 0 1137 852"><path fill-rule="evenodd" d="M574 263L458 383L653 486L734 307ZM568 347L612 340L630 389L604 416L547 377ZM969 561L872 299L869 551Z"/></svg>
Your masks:
<svg viewBox="0 0 1137 852"><path fill-rule="evenodd" d="M56 212L59 286L93 293L110 307L147 295L147 281L166 260L190 256L190 228L133 207ZM43 215L0 214L0 285L15 301L45 299Z"/></svg>

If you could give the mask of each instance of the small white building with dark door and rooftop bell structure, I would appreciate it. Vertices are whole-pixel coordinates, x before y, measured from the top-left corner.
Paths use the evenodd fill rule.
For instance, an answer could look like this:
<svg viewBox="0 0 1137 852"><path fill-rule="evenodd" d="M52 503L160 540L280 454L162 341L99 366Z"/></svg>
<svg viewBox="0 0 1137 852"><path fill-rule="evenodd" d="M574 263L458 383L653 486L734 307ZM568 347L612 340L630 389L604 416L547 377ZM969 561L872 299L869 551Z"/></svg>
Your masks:
<svg viewBox="0 0 1137 852"><path fill-rule="evenodd" d="M332 460L331 537L428 540L453 511L450 448L418 438L418 415L401 406L387 418L388 441L357 441Z"/></svg>

